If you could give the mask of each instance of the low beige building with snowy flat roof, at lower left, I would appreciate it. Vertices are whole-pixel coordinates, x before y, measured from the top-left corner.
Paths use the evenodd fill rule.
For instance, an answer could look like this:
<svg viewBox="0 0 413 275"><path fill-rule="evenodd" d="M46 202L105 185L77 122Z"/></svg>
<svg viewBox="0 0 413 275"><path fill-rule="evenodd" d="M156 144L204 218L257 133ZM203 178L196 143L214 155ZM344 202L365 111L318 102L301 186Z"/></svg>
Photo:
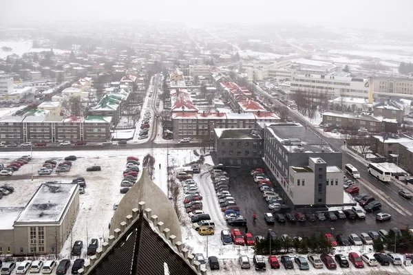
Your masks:
<svg viewBox="0 0 413 275"><path fill-rule="evenodd" d="M78 211L78 184L41 184L25 208L1 208L0 253L60 253Z"/></svg>

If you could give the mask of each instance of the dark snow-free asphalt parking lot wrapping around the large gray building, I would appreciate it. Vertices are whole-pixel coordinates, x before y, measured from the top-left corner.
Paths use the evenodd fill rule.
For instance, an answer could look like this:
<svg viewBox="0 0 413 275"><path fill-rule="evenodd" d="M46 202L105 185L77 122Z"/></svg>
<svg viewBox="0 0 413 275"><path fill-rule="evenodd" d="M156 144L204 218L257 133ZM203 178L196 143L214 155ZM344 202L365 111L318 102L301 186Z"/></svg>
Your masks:
<svg viewBox="0 0 413 275"><path fill-rule="evenodd" d="M241 214L248 220L248 231L254 235L266 235L268 228L277 232L278 236L281 234L288 234L290 236L310 236L314 233L331 233L334 235L342 233L345 235L369 230L380 230L389 228L405 228L407 225L413 225L413 219L410 215L404 215L390 207L386 201L381 201L381 211L373 213L366 213L366 219L356 219L350 221L348 219L337 221L304 221L289 223L277 223L274 225L266 224L263 218L264 212L271 212L268 210L268 204L262 198L262 192L251 177L251 170L247 168L227 168L226 170L231 178L230 192L237 201L237 205L241 208ZM274 184L273 184L274 185ZM275 184L277 186L277 184ZM369 190L360 187L360 194L369 194ZM377 199L379 200L379 199ZM253 222L253 213L257 214L257 221ZM391 221L378 222L375 219L377 212L387 212L392 215ZM334 228L332 230L331 228ZM413 226L412 226L413 228Z"/></svg>

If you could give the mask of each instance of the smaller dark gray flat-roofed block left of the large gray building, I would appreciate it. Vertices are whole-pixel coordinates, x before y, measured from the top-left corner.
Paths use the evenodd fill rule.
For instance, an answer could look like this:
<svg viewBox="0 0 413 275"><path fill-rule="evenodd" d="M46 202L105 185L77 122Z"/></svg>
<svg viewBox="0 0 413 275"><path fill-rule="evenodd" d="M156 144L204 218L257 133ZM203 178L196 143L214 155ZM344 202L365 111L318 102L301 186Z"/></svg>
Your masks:
<svg viewBox="0 0 413 275"><path fill-rule="evenodd" d="M218 162L229 166L262 164L263 140L255 129L214 129Z"/></svg>

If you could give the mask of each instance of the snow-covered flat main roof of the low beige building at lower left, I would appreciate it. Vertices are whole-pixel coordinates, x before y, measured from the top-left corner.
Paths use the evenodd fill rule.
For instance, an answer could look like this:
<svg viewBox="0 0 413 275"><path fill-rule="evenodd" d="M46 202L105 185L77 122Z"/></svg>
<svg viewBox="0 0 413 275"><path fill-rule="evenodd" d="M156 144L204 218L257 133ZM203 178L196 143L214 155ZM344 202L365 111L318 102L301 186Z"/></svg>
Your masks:
<svg viewBox="0 0 413 275"><path fill-rule="evenodd" d="M77 184L41 184L16 222L56 222L65 212Z"/></svg>

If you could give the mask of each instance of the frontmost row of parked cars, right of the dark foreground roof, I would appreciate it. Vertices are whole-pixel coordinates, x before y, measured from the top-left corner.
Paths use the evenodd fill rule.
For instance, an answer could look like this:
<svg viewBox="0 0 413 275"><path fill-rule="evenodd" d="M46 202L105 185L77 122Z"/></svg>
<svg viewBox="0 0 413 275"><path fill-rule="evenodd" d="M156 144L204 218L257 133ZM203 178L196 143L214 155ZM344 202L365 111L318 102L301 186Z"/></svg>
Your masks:
<svg viewBox="0 0 413 275"><path fill-rule="evenodd" d="M238 258L241 269L251 268L251 262L247 255L240 255ZM267 258L268 265L271 269L278 269L281 264L286 270L292 270L295 268L294 263L297 265L299 270L309 270L310 265L313 265L314 268L320 269L326 267L328 270L335 270L337 266L339 267L350 267L350 263L356 268L363 268L364 263L368 266L377 266L377 265L401 265L402 258L399 254L396 253L364 253L359 255L357 252L350 252L348 257L343 254L335 254L331 256L329 254L310 254L308 256L288 256L283 255L277 259L277 256L268 256ZM253 264L255 265L255 270L266 270L266 261L265 257L262 255L253 256Z"/></svg>

